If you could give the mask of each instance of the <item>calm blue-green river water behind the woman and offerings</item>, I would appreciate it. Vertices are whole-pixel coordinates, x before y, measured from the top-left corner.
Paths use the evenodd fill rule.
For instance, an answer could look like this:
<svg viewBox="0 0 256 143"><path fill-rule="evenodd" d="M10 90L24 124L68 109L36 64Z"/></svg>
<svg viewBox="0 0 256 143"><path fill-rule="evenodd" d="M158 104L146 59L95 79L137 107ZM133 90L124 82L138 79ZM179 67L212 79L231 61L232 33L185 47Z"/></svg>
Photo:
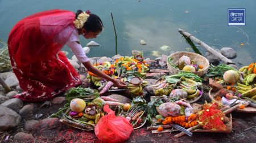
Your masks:
<svg viewBox="0 0 256 143"><path fill-rule="evenodd" d="M156 58L169 55L170 51L189 51L191 48L178 32L181 28L215 49L233 47L237 51L236 61L249 64L255 62L256 56L255 7L254 0L0 0L0 39L7 41L14 24L35 12L56 8L90 10L102 19L104 32L93 39L101 46L92 47L88 57L112 57L115 54L112 11L118 54L130 55L131 50L142 50L146 57ZM246 26L228 26L228 8L246 8ZM140 45L141 40L147 45ZM86 46L91 40L80 37L80 41ZM73 55L68 47L64 50L69 51L69 57Z"/></svg>

